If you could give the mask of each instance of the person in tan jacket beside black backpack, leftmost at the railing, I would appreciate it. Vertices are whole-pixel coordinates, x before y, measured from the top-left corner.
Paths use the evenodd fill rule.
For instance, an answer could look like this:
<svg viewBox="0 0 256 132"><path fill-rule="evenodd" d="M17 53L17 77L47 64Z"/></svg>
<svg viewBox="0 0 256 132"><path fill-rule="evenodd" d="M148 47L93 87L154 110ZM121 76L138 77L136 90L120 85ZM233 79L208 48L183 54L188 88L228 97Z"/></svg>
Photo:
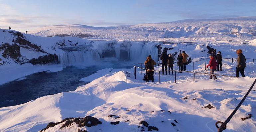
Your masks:
<svg viewBox="0 0 256 132"><path fill-rule="evenodd" d="M145 68L150 69L147 70L147 82L149 82L149 79L151 79L152 82L154 82L154 65L156 65L156 62L151 58L151 55L147 57L147 59L144 62Z"/></svg>

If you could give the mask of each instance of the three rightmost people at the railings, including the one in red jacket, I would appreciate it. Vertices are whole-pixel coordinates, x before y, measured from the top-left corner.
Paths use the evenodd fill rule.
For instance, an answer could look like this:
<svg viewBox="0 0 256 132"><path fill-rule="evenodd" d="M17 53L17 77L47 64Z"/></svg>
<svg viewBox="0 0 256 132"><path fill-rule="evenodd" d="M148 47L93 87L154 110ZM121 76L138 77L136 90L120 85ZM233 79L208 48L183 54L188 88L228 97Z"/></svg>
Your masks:
<svg viewBox="0 0 256 132"><path fill-rule="evenodd" d="M244 69L246 67L246 58L242 53L243 51L241 49L236 50L236 54L237 56L237 66L236 66L236 77L239 77L239 72L241 73L242 77L245 77L244 75ZM220 66L220 71L222 71L222 56L221 56L221 52L218 51L217 55L216 55L216 49L214 49L211 53L210 57L210 61L209 64L206 66L207 68L210 67L210 79L212 79L212 76L214 77L214 79L217 79L214 74L214 71L219 71L219 66ZM216 62L217 60L217 62Z"/></svg>

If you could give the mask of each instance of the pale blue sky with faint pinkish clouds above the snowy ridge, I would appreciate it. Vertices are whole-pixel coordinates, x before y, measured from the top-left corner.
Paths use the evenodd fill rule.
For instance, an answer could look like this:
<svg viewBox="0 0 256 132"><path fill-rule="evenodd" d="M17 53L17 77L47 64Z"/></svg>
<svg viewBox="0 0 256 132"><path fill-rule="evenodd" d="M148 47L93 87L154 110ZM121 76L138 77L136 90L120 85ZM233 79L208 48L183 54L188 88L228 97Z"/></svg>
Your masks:
<svg viewBox="0 0 256 132"><path fill-rule="evenodd" d="M0 0L0 28L119 26L256 16L256 0Z"/></svg>

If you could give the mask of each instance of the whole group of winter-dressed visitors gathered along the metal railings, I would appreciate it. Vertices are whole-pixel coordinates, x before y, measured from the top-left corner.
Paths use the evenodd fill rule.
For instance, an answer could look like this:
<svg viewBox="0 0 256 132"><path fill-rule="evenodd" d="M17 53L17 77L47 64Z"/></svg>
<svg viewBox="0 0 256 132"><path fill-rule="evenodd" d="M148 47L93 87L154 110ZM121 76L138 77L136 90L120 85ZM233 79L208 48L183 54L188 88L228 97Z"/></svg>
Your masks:
<svg viewBox="0 0 256 132"><path fill-rule="evenodd" d="M236 77L239 77L239 72L241 73L242 77L245 77L244 75L244 69L246 67L246 58L242 53L241 49L236 50L236 54L238 55L237 57L237 66L236 66ZM180 52L180 54L177 57L177 62L179 66L179 73L182 73L182 71L186 71L186 63L187 63L187 57L189 57L188 54L186 54L185 51ZM209 56L210 61L209 64L206 66L207 68L210 68L210 79L212 79L212 76L214 79L217 79L217 77L214 75L214 71L222 71L222 55L221 52L218 51L216 54L216 49L214 49ZM166 71L165 74L167 75L167 65L168 65L168 70L169 70L169 75L170 75L170 70L172 69L172 74L173 74L173 55L169 54L167 55L167 52L164 51L161 54L160 60L162 60L162 75L164 75L164 70ZM144 62L144 65L146 69L151 69L151 70L146 70L147 71L147 82L149 80L152 80L154 82L154 65L156 65L156 62L152 59L151 55L149 55Z"/></svg>

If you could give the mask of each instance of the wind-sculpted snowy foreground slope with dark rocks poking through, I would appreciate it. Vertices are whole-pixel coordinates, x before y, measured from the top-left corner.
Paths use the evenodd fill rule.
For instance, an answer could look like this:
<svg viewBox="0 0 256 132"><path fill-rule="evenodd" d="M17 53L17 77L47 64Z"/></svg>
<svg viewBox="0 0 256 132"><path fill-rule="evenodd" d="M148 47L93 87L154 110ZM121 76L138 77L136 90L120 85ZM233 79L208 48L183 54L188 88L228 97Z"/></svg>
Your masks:
<svg viewBox="0 0 256 132"><path fill-rule="evenodd" d="M219 81L200 78L196 82L182 81L175 84L165 82L172 78L165 76L161 77L164 83L159 84L138 79L142 77L139 72L137 79L134 79L133 69L105 69L88 78L102 72L108 74L96 77L97 79L75 91L0 108L0 131L36 132L46 128L49 122L84 116L96 117L102 123L91 127L79 126L71 118L56 125L50 123L50 127L44 131L77 132L80 129L89 132L137 132L147 131L149 126L154 126L161 132L217 131L215 122L227 118L254 81L250 77L222 78ZM179 76L186 78L188 75ZM252 91L227 125L226 132L253 132L256 129L254 116L241 120L241 117L248 114L256 114L255 97L255 91ZM213 107L205 107L209 104ZM139 124L143 120L148 126L146 123ZM116 125L110 124L111 122Z"/></svg>

